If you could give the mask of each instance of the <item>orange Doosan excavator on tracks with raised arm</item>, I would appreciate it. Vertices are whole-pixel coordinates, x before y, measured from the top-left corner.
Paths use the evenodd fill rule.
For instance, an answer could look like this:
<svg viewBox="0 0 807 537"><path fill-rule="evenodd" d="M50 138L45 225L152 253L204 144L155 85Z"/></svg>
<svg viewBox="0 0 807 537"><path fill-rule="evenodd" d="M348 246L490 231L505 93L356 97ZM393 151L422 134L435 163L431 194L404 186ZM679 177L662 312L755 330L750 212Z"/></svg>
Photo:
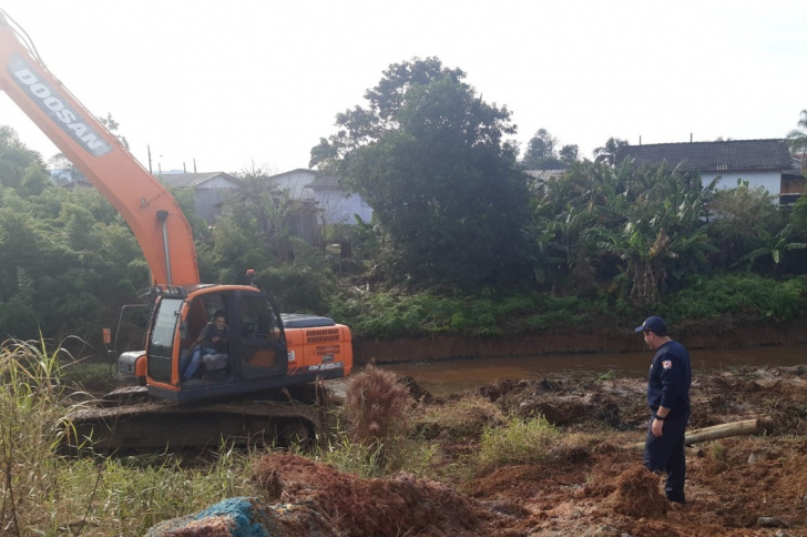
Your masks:
<svg viewBox="0 0 807 537"><path fill-rule="evenodd" d="M79 416L79 434L103 447L151 447L206 444L255 430L283 436L282 430L313 429L314 418L304 408L232 402L347 376L350 330L327 317L280 314L272 297L253 285L202 284L191 226L168 190L47 69L24 31L1 9L0 62L0 90L123 215L151 268L145 349L118 359L119 374L136 377L151 401ZM200 356L202 378L184 379L186 356L221 315L229 327L226 347Z"/></svg>

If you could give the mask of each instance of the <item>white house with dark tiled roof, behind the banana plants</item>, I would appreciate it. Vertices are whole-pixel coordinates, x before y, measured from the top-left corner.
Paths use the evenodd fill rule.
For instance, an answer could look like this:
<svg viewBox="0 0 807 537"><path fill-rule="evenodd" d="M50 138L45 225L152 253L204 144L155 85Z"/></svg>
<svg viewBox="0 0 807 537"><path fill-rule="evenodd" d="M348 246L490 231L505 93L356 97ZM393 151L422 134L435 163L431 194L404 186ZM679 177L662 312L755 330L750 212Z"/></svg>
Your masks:
<svg viewBox="0 0 807 537"><path fill-rule="evenodd" d="M794 160L784 140L729 140L726 142L656 143L623 145L616 150L615 163L626 159L650 165L667 162L683 171L698 171L704 184L716 176L718 189L733 189L737 180L748 181L752 188L763 186L783 202L791 202L804 193L804 181L794 178ZM796 173L796 175L799 175ZM785 196L788 196L787 199Z"/></svg>

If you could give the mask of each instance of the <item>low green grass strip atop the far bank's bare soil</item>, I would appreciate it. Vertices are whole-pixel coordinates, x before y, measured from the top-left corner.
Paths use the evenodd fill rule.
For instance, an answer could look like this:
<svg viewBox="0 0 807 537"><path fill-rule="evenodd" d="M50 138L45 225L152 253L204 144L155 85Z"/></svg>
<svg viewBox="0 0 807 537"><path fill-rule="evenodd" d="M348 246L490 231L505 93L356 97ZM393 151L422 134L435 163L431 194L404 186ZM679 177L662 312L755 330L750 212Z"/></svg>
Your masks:
<svg viewBox="0 0 807 537"><path fill-rule="evenodd" d="M340 296L330 302L328 314L356 336L488 337L627 328L650 314L671 324L726 316L746 323L789 323L801 318L805 302L807 276L777 281L744 273L693 277L687 288L668 292L660 304L646 308L634 307L603 287L599 296L589 297L489 290L470 295L377 292Z"/></svg>

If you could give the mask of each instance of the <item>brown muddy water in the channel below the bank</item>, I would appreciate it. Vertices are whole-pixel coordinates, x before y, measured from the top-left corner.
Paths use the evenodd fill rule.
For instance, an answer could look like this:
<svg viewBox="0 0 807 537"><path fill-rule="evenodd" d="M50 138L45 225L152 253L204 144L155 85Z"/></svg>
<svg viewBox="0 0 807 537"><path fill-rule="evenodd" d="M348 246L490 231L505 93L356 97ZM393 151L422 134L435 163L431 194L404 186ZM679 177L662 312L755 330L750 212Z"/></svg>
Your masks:
<svg viewBox="0 0 807 537"><path fill-rule="evenodd" d="M689 356L695 374L742 365L798 365L807 363L807 345L695 349ZM647 351L409 362L379 367L411 376L435 395L448 395L505 378L543 378L554 374L591 377L613 371L617 377L644 377L652 358L653 353Z"/></svg>

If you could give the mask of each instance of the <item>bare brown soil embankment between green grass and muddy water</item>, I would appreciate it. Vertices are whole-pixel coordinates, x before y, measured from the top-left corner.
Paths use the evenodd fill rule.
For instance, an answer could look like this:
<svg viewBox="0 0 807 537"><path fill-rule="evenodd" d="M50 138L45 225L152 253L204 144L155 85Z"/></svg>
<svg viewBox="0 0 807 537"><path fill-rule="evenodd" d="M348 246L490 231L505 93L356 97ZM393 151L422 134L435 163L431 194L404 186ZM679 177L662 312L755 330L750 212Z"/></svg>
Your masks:
<svg viewBox="0 0 807 537"><path fill-rule="evenodd" d="M688 348L737 348L807 343L807 325L727 326L692 324L672 333ZM354 341L357 364L418 362L449 358L531 356L540 354L622 353L645 351L641 337L630 328L595 328L530 333L499 337L460 334L399 337L392 341L358 337Z"/></svg>

